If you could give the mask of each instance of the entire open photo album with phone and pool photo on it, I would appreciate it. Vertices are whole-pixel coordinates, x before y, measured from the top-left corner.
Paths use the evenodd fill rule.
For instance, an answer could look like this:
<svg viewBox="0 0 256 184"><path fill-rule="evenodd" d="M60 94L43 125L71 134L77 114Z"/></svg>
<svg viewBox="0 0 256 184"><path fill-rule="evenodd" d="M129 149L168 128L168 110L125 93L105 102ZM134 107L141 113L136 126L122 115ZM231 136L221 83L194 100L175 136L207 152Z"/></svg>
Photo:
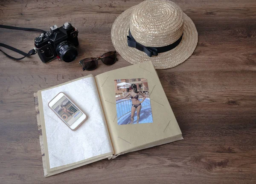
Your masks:
<svg viewBox="0 0 256 184"><path fill-rule="evenodd" d="M34 96L45 177L183 139L151 62L87 75Z"/></svg>

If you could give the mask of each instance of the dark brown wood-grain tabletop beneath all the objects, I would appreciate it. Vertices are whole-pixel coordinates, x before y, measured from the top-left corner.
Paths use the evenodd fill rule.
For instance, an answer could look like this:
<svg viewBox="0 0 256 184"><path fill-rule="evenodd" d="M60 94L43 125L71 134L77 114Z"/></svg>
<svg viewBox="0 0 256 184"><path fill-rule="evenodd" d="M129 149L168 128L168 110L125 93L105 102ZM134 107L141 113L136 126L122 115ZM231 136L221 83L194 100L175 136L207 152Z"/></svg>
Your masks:
<svg viewBox="0 0 256 184"><path fill-rule="evenodd" d="M198 30L194 54L175 68L157 71L184 140L49 178L43 178L33 93L129 66L119 56L113 66L99 63L96 70L83 72L79 60L114 50L113 21L139 2L0 1L0 24L49 30L70 22L79 30L80 42L79 57L72 63L45 64L38 55L16 62L0 54L1 184L256 183L256 1L173 1ZM0 29L0 42L28 52L38 35Z"/></svg>

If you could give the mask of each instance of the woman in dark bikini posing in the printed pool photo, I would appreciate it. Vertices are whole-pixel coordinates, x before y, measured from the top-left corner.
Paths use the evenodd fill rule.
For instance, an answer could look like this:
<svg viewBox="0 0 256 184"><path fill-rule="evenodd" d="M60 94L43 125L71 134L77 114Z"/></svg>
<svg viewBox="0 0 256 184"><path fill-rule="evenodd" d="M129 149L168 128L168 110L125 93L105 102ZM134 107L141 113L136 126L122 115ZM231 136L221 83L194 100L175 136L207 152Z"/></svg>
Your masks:
<svg viewBox="0 0 256 184"><path fill-rule="evenodd" d="M143 95L141 92L139 92L138 89L137 89L137 85L133 83L133 84L131 84L131 91L128 92L127 95L125 95L124 97L116 99L116 101L125 99L129 95L130 95L131 102L132 102L132 105L131 105L131 122L130 122L130 124L134 124L135 111L137 111L137 124L138 124L139 121L140 121L140 110L142 108L141 103L143 103L146 96ZM139 96L140 95L143 97L142 101L139 101Z"/></svg>

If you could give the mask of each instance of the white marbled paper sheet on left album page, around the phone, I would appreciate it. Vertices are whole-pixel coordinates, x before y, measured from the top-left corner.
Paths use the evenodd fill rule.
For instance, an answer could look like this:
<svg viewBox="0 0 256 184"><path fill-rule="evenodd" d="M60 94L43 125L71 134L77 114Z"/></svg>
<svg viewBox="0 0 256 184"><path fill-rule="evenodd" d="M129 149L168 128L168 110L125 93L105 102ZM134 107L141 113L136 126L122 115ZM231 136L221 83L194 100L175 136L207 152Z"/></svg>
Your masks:
<svg viewBox="0 0 256 184"><path fill-rule="evenodd" d="M76 131L70 130L48 107L59 92L64 92L88 116ZM113 153L93 77L43 90L41 99L50 169Z"/></svg>

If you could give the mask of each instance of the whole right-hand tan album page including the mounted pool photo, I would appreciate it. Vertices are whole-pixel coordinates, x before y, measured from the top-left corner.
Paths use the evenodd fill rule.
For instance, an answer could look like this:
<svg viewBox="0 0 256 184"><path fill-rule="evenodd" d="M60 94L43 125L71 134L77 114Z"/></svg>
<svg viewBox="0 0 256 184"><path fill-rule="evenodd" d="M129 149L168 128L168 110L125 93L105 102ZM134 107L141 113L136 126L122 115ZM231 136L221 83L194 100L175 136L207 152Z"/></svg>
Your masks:
<svg viewBox="0 0 256 184"><path fill-rule="evenodd" d="M115 155L183 139L151 62L105 72L95 81Z"/></svg>

